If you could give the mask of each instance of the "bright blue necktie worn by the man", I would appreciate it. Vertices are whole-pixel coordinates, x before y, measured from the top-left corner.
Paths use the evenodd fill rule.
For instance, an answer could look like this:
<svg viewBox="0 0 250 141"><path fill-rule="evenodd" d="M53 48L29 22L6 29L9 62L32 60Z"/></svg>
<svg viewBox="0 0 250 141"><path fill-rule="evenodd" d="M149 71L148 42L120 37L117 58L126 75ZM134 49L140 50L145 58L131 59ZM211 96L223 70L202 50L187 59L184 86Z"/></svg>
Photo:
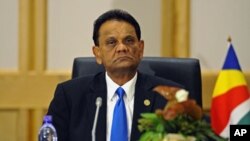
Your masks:
<svg viewBox="0 0 250 141"><path fill-rule="evenodd" d="M127 115L123 100L125 91L122 87L119 87L116 94L119 99L114 108L110 141L128 141Z"/></svg>

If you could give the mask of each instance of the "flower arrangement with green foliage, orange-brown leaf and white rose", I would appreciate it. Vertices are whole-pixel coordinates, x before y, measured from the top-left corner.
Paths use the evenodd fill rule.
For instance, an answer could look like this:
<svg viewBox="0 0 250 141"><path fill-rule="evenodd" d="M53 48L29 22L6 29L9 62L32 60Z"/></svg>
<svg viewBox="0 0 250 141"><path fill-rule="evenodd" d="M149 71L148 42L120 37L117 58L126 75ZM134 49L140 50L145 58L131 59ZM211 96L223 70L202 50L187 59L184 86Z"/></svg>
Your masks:
<svg viewBox="0 0 250 141"><path fill-rule="evenodd" d="M201 107L188 99L186 90L157 86L154 91L168 99L168 103L155 113L141 114L140 141L226 141L202 118Z"/></svg>

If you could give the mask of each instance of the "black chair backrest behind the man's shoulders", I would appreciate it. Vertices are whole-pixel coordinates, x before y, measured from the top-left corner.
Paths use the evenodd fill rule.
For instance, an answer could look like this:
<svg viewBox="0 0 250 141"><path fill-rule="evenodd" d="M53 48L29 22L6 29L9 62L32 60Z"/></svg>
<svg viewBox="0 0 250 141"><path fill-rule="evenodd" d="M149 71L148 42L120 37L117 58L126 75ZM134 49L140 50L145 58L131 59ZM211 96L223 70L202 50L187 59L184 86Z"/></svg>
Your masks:
<svg viewBox="0 0 250 141"><path fill-rule="evenodd" d="M144 57L138 67L140 72L170 79L185 86L190 97L202 106L201 70L198 59ZM94 57L74 59L72 78L104 71Z"/></svg>

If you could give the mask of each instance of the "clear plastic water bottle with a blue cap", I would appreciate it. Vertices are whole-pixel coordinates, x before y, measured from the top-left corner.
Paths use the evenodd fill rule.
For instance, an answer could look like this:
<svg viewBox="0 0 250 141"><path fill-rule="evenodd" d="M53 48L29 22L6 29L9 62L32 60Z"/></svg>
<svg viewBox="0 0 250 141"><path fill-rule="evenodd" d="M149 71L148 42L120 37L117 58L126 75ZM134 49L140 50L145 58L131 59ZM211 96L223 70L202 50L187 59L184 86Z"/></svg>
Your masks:
<svg viewBox="0 0 250 141"><path fill-rule="evenodd" d="M52 116L43 118L43 125L39 130L38 141L57 141L56 129L52 124Z"/></svg>

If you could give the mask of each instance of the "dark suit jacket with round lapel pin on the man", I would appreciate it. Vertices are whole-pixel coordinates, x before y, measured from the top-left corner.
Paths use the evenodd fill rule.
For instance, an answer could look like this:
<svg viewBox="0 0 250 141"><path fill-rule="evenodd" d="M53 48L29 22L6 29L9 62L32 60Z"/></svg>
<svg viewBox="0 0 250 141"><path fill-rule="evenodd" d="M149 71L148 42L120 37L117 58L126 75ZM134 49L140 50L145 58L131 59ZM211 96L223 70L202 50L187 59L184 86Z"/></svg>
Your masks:
<svg viewBox="0 0 250 141"><path fill-rule="evenodd" d="M131 141L137 141L140 137L137 128L140 114L154 112L155 109L163 108L166 104L166 100L162 96L152 91L152 88L159 84L180 86L170 80L138 73ZM53 117L58 141L91 141L97 97L102 97L103 104L97 120L96 141L106 141L107 87L105 73L72 79L57 86L48 114ZM149 106L144 105L145 99L150 101Z"/></svg>

